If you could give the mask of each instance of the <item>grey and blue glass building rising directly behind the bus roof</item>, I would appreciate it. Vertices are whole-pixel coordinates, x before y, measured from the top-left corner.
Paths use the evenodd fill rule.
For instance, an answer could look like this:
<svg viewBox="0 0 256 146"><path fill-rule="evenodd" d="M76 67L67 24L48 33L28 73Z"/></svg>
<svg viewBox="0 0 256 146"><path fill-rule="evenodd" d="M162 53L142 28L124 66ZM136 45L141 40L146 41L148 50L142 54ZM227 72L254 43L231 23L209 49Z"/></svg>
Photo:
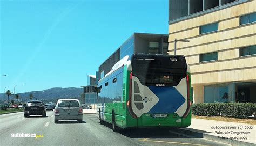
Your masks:
<svg viewBox="0 0 256 146"><path fill-rule="evenodd" d="M168 54L168 35L134 33L100 66L97 79L103 78L111 71L113 65L126 55L132 53ZM96 81L98 82L98 80Z"/></svg>

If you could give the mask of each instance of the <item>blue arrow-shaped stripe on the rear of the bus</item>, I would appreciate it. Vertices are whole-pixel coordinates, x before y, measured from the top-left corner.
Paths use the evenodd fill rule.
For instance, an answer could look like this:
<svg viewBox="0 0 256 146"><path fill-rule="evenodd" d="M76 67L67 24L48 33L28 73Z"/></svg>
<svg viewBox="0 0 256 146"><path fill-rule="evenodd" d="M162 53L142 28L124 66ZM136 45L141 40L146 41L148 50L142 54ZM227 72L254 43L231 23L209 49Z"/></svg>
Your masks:
<svg viewBox="0 0 256 146"><path fill-rule="evenodd" d="M149 86L159 101L148 113L174 113L186 101L174 87Z"/></svg>

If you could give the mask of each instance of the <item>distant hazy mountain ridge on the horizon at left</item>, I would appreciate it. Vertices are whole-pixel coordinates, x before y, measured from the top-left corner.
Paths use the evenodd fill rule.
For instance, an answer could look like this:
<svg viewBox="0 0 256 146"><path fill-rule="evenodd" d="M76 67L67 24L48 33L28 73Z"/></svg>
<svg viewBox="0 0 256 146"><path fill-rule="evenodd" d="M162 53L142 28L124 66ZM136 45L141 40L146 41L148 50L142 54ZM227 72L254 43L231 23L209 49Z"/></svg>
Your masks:
<svg viewBox="0 0 256 146"><path fill-rule="evenodd" d="M57 100L57 98L79 98L80 94L83 93L82 88L76 88L76 87L68 87L68 88L62 88L62 87L54 87L43 91L31 91L31 92L25 92L25 93L19 93L19 96L21 97L21 100L28 101L29 94L33 94L34 98L33 100ZM9 99L14 99L14 96L9 96ZM0 93L0 100L6 100L7 96L4 93Z"/></svg>

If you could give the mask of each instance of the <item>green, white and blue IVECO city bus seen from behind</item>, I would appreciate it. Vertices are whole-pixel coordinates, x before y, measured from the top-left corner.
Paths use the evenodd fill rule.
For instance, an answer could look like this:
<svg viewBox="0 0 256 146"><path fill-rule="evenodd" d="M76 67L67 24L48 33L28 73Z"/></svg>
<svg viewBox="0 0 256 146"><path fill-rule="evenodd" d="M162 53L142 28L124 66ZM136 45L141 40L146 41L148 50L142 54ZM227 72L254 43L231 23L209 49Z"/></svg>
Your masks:
<svg viewBox="0 0 256 146"><path fill-rule="evenodd" d="M97 118L114 132L191 124L190 68L182 55L127 55L98 81L97 90Z"/></svg>

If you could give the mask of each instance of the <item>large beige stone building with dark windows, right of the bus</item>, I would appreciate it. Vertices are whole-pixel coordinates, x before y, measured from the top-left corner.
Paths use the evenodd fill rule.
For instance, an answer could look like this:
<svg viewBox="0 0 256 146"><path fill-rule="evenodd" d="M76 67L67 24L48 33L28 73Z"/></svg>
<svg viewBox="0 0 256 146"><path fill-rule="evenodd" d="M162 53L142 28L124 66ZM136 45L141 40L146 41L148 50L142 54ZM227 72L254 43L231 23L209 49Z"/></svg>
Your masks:
<svg viewBox="0 0 256 146"><path fill-rule="evenodd" d="M194 103L256 103L256 1L169 0L169 54L185 55Z"/></svg>

